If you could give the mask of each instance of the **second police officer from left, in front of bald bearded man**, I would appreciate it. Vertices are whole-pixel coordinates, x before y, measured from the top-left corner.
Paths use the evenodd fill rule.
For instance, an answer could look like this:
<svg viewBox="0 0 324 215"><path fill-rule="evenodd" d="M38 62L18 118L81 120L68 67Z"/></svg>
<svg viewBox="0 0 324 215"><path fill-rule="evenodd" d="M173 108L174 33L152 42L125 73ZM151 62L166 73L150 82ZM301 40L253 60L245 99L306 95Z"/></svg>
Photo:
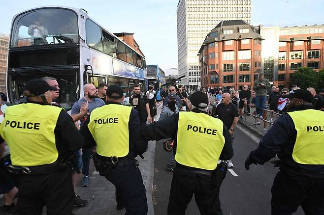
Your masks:
<svg viewBox="0 0 324 215"><path fill-rule="evenodd" d="M107 105L90 113L81 134L86 147L97 144L94 163L99 174L115 185L117 209L125 204L126 215L146 215L145 187L134 160L147 149L139 114L134 108L121 105L124 92L119 85L108 86L106 98Z"/></svg>

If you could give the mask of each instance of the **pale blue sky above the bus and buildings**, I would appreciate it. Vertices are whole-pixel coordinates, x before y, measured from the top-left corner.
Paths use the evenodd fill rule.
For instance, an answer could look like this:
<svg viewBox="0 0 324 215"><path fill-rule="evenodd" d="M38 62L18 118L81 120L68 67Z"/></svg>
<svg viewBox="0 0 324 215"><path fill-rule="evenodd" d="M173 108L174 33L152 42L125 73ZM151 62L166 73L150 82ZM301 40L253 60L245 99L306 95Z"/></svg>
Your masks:
<svg viewBox="0 0 324 215"><path fill-rule="evenodd" d="M288 3L287 3L288 2ZM8 34L12 17L32 7L61 5L84 8L110 32L132 32L146 64L178 68L178 0L1 0L0 33ZM324 24L323 0L252 0L252 25Z"/></svg>

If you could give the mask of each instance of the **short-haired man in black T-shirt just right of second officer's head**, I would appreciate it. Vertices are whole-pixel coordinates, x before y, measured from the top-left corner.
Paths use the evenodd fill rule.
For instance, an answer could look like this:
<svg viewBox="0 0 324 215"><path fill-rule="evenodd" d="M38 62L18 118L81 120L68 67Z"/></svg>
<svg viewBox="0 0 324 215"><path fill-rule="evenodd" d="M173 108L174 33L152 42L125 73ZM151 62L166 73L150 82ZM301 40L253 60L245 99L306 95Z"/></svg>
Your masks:
<svg viewBox="0 0 324 215"><path fill-rule="evenodd" d="M130 96L130 104L139 113L139 119L142 125L146 124L146 121L151 123L149 100L140 91L139 84L134 85L133 94Z"/></svg>

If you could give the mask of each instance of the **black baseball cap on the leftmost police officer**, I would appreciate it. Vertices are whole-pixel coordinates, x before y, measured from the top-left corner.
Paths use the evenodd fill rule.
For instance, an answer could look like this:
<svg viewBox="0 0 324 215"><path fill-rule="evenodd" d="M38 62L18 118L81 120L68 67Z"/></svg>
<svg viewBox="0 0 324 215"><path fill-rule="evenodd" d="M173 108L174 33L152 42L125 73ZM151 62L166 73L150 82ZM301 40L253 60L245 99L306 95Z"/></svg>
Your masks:
<svg viewBox="0 0 324 215"><path fill-rule="evenodd" d="M57 91L58 89L55 86L50 86L42 79L32 79L25 84L24 91L25 90L28 90L32 96L39 96L48 90Z"/></svg>

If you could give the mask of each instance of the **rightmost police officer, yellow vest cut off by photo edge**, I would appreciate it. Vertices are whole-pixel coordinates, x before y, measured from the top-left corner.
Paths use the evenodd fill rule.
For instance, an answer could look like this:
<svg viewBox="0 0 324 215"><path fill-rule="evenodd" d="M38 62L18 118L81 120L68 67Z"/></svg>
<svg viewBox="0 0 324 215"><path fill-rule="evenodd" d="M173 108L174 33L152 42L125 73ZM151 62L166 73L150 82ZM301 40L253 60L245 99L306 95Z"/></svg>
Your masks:
<svg viewBox="0 0 324 215"><path fill-rule="evenodd" d="M272 215L324 215L324 112L312 107L307 90L293 90L288 112L276 120L245 161L264 164L276 155L280 166L271 188Z"/></svg>

